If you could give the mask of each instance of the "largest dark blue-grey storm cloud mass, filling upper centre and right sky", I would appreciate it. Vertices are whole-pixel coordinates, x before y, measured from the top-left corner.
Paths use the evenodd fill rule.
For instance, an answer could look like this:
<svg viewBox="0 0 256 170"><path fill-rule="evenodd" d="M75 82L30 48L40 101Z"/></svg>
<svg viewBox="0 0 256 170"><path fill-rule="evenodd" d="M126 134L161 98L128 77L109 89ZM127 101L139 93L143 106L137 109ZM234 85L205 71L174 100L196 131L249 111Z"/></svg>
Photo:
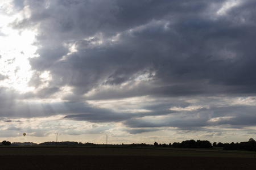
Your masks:
<svg viewBox="0 0 256 170"><path fill-rule="evenodd" d="M147 2L148 6L150 4L152 7L153 4L156 5L155 2ZM153 8L170 5L160 2L157 4ZM82 5L86 9L91 4L81 3L79 8ZM255 61L251 56L254 49L250 49L249 56L245 54L248 46L254 41L245 37L249 38L253 34L254 25L236 24L232 14L229 14L230 18L219 16L217 20L205 18L202 14L209 7L207 3L200 3L202 7L197 7L192 16L178 11L172 11L170 14L170 10L166 8L164 8L166 12L163 12L163 9L160 14L153 15L149 8L143 8L142 13L144 11L152 14L131 20L126 17L129 16L129 13L126 13L127 7L122 5L115 4L122 9L118 14L110 12L109 8L113 6L106 6L104 11L109 12L109 18L105 16L94 18L94 12L102 9L102 6L97 4L92 5L94 12L84 10L81 13L73 11L70 16L65 14L67 17L73 17L72 19L81 18L81 15L84 17L80 19L80 24L73 22L72 29L68 31L60 31L62 28L56 29L63 27L63 23L58 23L61 19L59 15L46 19L46 24L47 22L56 24L46 25L46 29L40 29L42 33L38 36L38 43L43 46L38 49L40 57L31 59L32 68L50 70L53 75L52 86L72 86L76 95L86 94L94 88L99 89L100 92L96 93L97 99L101 97L102 86L119 87L127 82L130 82L130 86L134 88L122 92L116 90L119 95L117 97L255 92L252 88L255 84L256 74L253 74ZM179 3L176 5L181 6ZM195 8L193 3L185 8L189 6ZM131 5L130 10L138 7L138 4ZM51 6L47 11L60 10L59 8L59 6ZM71 7L64 6L62 10L71 10ZM242 12L245 9L239 10ZM83 13L85 11L87 15ZM173 13L177 15L175 19L171 19ZM125 18L127 22L123 23ZM97 24L91 24L91 20ZM110 24L106 26L105 22ZM117 42L108 41L117 33L120 34ZM56 35L57 39L54 38ZM77 36L83 38L94 36L94 38L85 41ZM49 42L50 37L52 42ZM61 45L64 42L72 42L73 38L76 39L78 52L69 55L64 61L59 61L68 53L67 47ZM92 45L92 42L100 40L104 41L102 45ZM141 83L134 86L134 79L146 72L152 77L146 82L150 85L143 86ZM102 92L107 97L112 96L108 92Z"/></svg>

